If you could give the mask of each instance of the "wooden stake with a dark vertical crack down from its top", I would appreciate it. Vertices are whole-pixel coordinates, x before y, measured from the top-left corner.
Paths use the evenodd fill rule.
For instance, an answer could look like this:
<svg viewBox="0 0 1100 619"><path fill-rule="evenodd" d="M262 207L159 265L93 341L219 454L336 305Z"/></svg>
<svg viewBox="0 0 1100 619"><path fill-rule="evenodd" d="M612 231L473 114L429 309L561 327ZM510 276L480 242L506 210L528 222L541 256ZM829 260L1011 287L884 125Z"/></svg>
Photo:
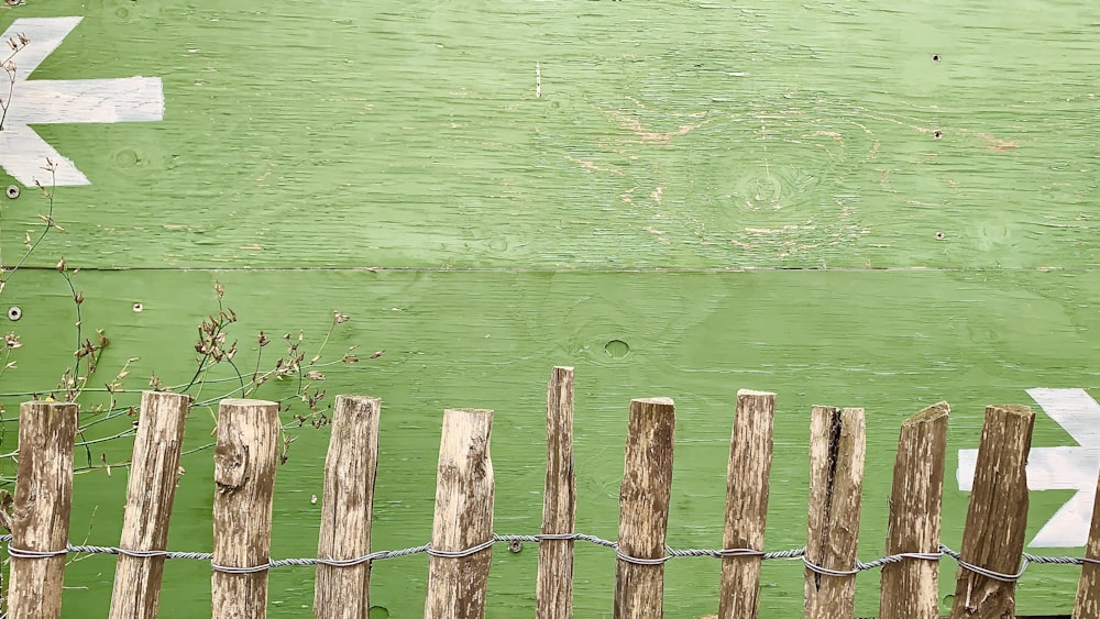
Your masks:
<svg viewBox="0 0 1100 619"><path fill-rule="evenodd" d="M826 570L856 567L859 499L866 455L864 409L815 406L810 421L810 520L806 561ZM849 619L856 576L805 568L806 619Z"/></svg>

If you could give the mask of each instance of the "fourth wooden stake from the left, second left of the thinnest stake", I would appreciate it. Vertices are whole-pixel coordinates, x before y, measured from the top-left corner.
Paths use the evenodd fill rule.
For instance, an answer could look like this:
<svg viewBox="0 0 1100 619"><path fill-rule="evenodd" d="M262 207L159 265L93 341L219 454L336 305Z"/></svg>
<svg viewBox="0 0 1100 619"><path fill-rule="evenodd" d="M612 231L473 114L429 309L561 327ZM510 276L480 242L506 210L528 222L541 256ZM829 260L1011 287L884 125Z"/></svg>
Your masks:
<svg viewBox="0 0 1100 619"><path fill-rule="evenodd" d="M378 413L382 400L337 396L332 433L324 457L321 531L317 556L350 560L371 552L374 479L378 471ZM371 564L317 565L314 616L366 619Z"/></svg>

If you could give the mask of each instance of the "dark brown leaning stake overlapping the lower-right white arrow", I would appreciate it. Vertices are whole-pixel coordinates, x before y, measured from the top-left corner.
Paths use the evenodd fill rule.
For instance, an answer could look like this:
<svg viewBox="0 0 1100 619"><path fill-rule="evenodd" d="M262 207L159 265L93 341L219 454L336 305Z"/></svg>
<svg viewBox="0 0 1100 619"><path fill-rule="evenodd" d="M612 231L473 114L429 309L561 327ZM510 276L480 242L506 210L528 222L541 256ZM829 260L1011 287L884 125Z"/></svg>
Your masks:
<svg viewBox="0 0 1100 619"><path fill-rule="evenodd" d="M1025 406L986 407L960 560L1001 574L1020 570L1027 527L1027 453L1035 414ZM1015 583L958 568L952 619L1015 616Z"/></svg>

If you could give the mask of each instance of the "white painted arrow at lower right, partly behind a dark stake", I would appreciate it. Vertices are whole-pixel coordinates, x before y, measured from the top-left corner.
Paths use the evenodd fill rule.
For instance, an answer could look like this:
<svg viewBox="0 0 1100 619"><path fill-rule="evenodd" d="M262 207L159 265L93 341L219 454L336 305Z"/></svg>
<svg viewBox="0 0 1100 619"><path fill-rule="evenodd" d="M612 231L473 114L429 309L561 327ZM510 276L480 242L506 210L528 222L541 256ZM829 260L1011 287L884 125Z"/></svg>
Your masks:
<svg viewBox="0 0 1100 619"><path fill-rule="evenodd" d="M1077 490L1040 529L1033 548L1084 546L1089 537L1100 475L1100 404L1085 389L1027 389L1027 395L1080 446L1033 447L1027 456L1030 490ZM974 488L978 450L959 450L959 489Z"/></svg>

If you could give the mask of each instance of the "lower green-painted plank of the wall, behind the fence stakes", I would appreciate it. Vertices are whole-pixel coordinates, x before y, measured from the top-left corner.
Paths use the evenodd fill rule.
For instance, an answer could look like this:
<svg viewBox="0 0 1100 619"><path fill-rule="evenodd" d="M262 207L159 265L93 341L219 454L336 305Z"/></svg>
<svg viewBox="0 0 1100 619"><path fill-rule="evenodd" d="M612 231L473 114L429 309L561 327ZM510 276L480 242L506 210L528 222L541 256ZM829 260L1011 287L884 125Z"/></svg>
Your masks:
<svg viewBox="0 0 1100 619"><path fill-rule="evenodd" d="M1084 388L1100 394L1096 347L1088 333L1100 330L1094 291L1100 273L1072 272L865 272L865 273L416 273L416 272L81 272L76 274L84 333L103 329L110 347L91 388L112 382L127 360L140 357L122 379L127 389L145 387L150 375L186 384L195 373L195 327L217 311L213 285L226 288L224 306L240 322L229 325L228 343L239 341L234 362L242 373L256 367L257 332L272 343L262 368L274 365L289 334L305 331L306 360L317 353L333 310L350 317L337 324L321 362L337 361L358 345L358 364L321 368L314 382L332 395L367 394L383 399L376 549L417 545L431 530L436 450L441 412L448 407L496 410L493 460L496 469L497 531L537 531L543 483L542 443L546 375L554 364L576 369L574 441L578 528L613 538L618 521L618 484L629 400L675 398L676 465L669 543L716 548L722 542L725 475L733 407L739 388L778 394L772 493L766 545L804 544L809 484L807 436L811 405L859 406L867 411L867 471L859 556L882 552L890 469L898 428L910 414L939 400L952 405L944 497L944 540L958 548L968 493L956 479L958 450L977 446L983 407L1031 404L1036 409L1036 449L1072 446L1074 438L1040 411L1025 389ZM54 272L22 272L4 290L21 309L16 333L23 347L10 351L16 366L0 375L6 391L40 391L57 384L76 346L74 306ZM140 312L134 303L142 303ZM7 309L7 308L0 308ZM7 320L0 318L0 320ZM376 358L375 352L382 352ZM217 398L239 387L222 365L196 395ZM260 397L293 396L296 382L273 382ZM196 390L193 389L193 393ZM119 394L121 402L136 396ZM6 417L23 398L3 398ZM86 393L85 423L109 399ZM300 406L295 409L301 412ZM284 417L294 425L289 416ZM109 438L129 428L120 417L92 425L86 439ZM3 433L2 446L14 434ZM186 447L210 442L211 414L197 407ZM316 528L327 430L307 427L278 472L274 556L308 556ZM79 465L117 463L128 441L81 447ZM211 453L185 455L169 546L209 548ZM1033 460L1037 453L1033 452ZM0 474L10 476L10 462ZM122 521L125 475L105 468L77 476L74 535L110 543ZM1094 478L1092 479L1094 487ZM1068 490L1033 491L1028 542L1072 496ZM598 617L610 609L615 557L606 549L578 544L576 614ZM1079 548L1028 548L1040 554L1077 554ZM537 553L494 552L490 614L516 616L534 605ZM66 608L107 608L110 570L103 557L67 568ZM697 617L716 609L719 563L681 559L667 568L670 615ZM952 594L954 564L945 561L943 596ZM422 557L375 565L372 604L391 616L422 611L427 563ZM1021 612L1067 612L1079 572L1033 565L1020 587ZM799 564L763 565L761 615L791 616L801 608ZM308 608L311 573L272 574L274 616L296 617ZM105 583L107 583L105 585ZM209 566L169 562L166 608L197 615L209 604ZM82 588L87 587L87 588ZM876 574L859 577L857 612L877 612ZM949 599L944 603L949 605ZM188 606L188 605L194 605ZM190 609L190 610L185 610Z"/></svg>

